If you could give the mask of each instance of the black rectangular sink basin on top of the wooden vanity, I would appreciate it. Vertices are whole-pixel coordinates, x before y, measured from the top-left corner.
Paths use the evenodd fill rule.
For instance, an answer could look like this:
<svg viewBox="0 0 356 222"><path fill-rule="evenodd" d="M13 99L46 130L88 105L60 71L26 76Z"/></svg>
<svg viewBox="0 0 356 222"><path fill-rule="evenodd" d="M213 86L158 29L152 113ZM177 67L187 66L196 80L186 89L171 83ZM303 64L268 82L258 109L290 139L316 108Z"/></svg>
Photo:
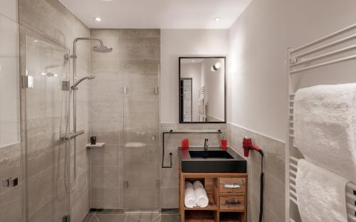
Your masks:
<svg viewBox="0 0 356 222"><path fill-rule="evenodd" d="M246 173L246 159L229 147L179 147L179 159L184 173Z"/></svg>

